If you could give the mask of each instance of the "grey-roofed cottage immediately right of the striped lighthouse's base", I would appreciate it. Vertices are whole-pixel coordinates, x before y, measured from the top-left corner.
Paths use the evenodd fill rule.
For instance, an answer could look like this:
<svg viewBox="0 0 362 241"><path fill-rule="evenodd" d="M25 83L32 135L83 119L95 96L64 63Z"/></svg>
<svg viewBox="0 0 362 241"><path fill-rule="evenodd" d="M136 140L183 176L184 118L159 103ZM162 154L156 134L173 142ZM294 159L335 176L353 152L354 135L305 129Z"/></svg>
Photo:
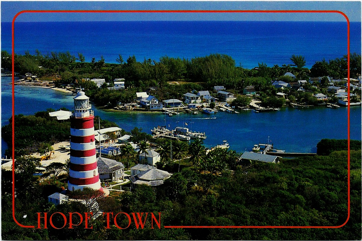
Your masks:
<svg viewBox="0 0 362 241"><path fill-rule="evenodd" d="M104 157L98 157L97 167L100 180L123 180L125 166L121 162Z"/></svg>

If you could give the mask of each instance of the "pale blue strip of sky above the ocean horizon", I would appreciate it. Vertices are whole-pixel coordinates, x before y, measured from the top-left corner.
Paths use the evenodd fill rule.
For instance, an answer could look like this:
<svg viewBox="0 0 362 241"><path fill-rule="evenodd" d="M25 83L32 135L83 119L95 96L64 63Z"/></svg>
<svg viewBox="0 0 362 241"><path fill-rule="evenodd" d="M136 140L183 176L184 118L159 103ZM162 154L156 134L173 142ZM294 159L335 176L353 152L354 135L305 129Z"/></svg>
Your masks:
<svg viewBox="0 0 362 241"><path fill-rule="evenodd" d="M1 1L1 22L22 10L338 10L361 21L360 1ZM346 21L338 13L22 13L16 21Z"/></svg>

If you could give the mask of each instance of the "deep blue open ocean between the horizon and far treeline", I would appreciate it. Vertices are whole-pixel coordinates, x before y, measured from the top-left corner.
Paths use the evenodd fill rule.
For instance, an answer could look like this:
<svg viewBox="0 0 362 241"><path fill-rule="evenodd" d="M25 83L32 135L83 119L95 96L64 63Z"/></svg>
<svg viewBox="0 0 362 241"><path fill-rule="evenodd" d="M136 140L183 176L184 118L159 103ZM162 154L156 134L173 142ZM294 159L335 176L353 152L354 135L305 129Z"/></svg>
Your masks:
<svg viewBox="0 0 362 241"><path fill-rule="evenodd" d="M361 23L350 24L350 52L361 53ZM162 56L191 59L211 53L233 57L237 66L292 64L302 55L306 67L347 54L345 22L139 21L16 22L15 52L82 53L86 61L118 54L138 61ZM1 23L1 50L11 51L11 23Z"/></svg>

